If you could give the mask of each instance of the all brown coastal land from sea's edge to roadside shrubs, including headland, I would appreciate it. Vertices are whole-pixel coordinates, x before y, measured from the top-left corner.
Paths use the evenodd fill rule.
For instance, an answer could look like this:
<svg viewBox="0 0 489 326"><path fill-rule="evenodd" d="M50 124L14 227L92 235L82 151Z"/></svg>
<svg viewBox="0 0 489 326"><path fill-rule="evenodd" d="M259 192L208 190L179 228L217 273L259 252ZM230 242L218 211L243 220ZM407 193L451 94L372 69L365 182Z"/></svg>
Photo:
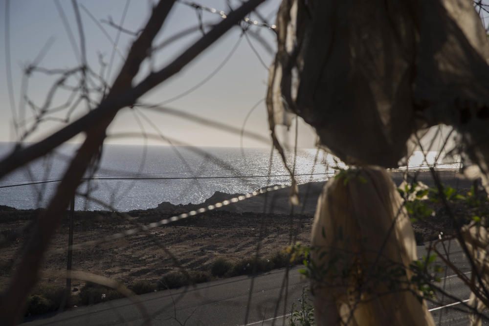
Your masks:
<svg viewBox="0 0 489 326"><path fill-rule="evenodd" d="M457 171L443 171L440 174L444 184L453 187L458 185L458 188L464 189L471 186L471 181L461 180ZM418 179L429 185L431 174L420 172ZM393 172L393 180L396 184L400 184L403 180L402 172ZM294 208L293 216L290 214L289 188L285 188L268 195L255 196L230 204L223 207L222 211L213 210L202 213L196 218L185 218L165 227L153 228L152 234L165 239L168 249L178 253L183 267L193 273L208 275L212 263L219 258L224 257L233 264L239 264L243 259L253 257L256 241L261 236L263 253L270 254L283 249L289 243L290 225L298 226L297 240L308 245L317 197L324 184L325 182L311 182L299 186L300 200L304 208ZM307 198L306 194L309 195ZM215 204L225 200L226 197L236 195L238 194L218 192L206 201L208 204ZM208 204L166 203L161 204L160 209L133 210L127 213L138 223L149 224ZM1 261L4 261L0 287L8 282L20 245L35 225L29 222L34 220L37 214L38 211L33 209L17 210L0 206L0 236L3 239ZM69 225L67 217L68 215L63 218L56 232L50 247L52 250L43 267L46 272L54 273L53 275L66 266L66 235ZM446 229L445 220L442 215L435 221L435 226L449 231ZM133 227L133 223L113 212L76 211L74 243L102 239L107 235L130 230ZM437 228L435 230L438 230ZM429 225L415 223L413 229L417 241L426 241L436 236L433 227ZM162 255L161 249L155 246L152 239L147 238L144 233L108 241L98 245L97 250L93 250L93 247L87 244L77 249L73 259L77 269L90 270L129 284L137 280L155 283L162 276L178 271L171 258ZM64 286L64 282L65 279L61 275L58 278L42 280L44 284L55 286ZM75 282L72 286L80 289L83 284L83 282Z"/></svg>

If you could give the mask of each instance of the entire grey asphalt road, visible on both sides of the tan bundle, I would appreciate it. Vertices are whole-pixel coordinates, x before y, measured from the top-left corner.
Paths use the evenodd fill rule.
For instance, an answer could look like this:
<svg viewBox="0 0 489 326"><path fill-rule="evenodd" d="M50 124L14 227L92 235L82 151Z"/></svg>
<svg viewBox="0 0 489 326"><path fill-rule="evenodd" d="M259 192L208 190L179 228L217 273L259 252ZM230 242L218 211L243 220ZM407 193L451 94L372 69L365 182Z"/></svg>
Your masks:
<svg viewBox="0 0 489 326"><path fill-rule="evenodd" d="M423 247L418 247L419 255L424 255ZM458 245L452 243L450 260L463 272L469 272L468 263ZM286 310L285 298L277 300L284 282L285 269L274 270L254 279L253 293L246 325L288 325L288 315L292 302L297 302L304 285L298 268L289 274ZM251 278L247 276L230 278L199 284L195 287L160 291L139 296L152 325L244 325ZM441 286L451 295L468 299L468 288L447 271ZM442 305L428 304L438 325L467 325L467 315L457 311L463 308L448 297L439 295ZM277 308L278 306L278 308ZM274 318L275 317L275 318ZM278 317L278 318L277 318ZM141 325L145 315L128 299L114 300L92 306L78 307L54 316L38 317L24 323L25 326L38 325ZM487 325L487 324L484 324Z"/></svg>

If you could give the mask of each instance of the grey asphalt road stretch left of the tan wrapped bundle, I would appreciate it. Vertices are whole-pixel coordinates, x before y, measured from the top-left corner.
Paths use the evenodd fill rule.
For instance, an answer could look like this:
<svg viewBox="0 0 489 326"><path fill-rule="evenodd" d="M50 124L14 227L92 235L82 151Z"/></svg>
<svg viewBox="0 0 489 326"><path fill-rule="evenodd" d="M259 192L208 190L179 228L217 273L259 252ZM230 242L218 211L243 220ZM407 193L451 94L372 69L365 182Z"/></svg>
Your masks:
<svg viewBox="0 0 489 326"><path fill-rule="evenodd" d="M255 278L248 321L272 318L284 280L284 269ZM251 278L246 276L198 284L195 288L167 290L139 296L152 317L153 325L243 325ZM291 270L287 307L299 298L307 282L297 268ZM289 313L289 310L286 311ZM279 304L277 316L284 315ZM144 317L128 299L84 306L23 325L141 325ZM179 324L181 323L181 324Z"/></svg>

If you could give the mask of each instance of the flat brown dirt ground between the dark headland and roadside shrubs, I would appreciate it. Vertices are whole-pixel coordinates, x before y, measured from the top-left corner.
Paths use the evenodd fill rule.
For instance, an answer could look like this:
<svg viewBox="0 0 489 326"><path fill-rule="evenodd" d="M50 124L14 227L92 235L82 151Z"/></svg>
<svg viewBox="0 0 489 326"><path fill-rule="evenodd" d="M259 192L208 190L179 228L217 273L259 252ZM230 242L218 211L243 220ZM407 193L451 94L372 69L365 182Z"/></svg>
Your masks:
<svg viewBox="0 0 489 326"><path fill-rule="evenodd" d="M0 207L0 288L12 274L19 256L25 232L22 230L37 215L33 210L5 210ZM132 212L138 223L150 223L169 217L156 209ZM289 235L296 241L309 242L312 216L284 214L236 213L214 211L179 221L174 225L150 231L157 242L144 233L127 236L98 245L83 245L73 252L73 269L109 277L130 284L138 280L156 281L164 274L178 269L165 253L164 245L188 271L208 270L219 257L230 261L253 257L261 238L260 253L271 256L289 244ZM102 239L134 225L111 212L75 212L74 244ZM292 226L292 227L291 227ZM68 218L57 232L43 266L42 283L63 285L61 276L66 270ZM74 281L72 286L80 287Z"/></svg>

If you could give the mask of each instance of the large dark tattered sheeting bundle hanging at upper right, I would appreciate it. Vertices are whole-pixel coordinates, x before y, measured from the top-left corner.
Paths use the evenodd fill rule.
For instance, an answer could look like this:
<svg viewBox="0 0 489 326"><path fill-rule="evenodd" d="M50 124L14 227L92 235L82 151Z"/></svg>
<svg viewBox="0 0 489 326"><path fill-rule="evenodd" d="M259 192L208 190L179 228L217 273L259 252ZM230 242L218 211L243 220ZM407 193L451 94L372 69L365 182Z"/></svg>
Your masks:
<svg viewBox="0 0 489 326"><path fill-rule="evenodd" d="M489 42L472 0L283 0L276 25L270 124L293 112L343 162L385 168L453 126L489 193Z"/></svg>

